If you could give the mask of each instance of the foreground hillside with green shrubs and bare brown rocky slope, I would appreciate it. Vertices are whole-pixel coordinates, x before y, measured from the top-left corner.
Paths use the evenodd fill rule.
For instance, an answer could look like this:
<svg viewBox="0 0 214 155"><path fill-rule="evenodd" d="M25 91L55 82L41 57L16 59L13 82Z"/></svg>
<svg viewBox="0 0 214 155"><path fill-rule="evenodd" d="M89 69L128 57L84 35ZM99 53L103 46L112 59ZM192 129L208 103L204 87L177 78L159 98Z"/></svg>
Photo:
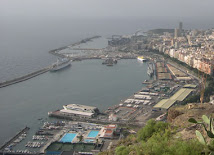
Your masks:
<svg viewBox="0 0 214 155"><path fill-rule="evenodd" d="M195 155L204 153L207 148L196 139L195 130L206 134L201 125L191 124L188 119L200 120L202 115L209 116L213 112L214 106L211 104L172 107L168 111L168 123L149 120L136 135L130 134L100 155Z"/></svg>

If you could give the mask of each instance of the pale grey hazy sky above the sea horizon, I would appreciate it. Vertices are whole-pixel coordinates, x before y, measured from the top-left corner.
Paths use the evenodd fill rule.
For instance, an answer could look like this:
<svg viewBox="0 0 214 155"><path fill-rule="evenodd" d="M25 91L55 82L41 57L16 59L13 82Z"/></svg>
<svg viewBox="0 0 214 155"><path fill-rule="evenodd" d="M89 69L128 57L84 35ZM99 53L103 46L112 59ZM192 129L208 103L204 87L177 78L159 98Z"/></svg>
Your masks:
<svg viewBox="0 0 214 155"><path fill-rule="evenodd" d="M0 16L213 16L214 0L0 0Z"/></svg>

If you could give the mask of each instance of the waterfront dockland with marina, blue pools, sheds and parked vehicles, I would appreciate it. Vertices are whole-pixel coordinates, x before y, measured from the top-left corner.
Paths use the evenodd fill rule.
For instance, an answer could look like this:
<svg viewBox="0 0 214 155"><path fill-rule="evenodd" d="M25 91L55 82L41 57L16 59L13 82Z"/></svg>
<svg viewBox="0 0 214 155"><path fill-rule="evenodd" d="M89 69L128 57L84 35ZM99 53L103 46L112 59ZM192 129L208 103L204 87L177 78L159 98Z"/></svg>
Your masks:
<svg viewBox="0 0 214 155"><path fill-rule="evenodd" d="M127 62L127 60L120 60L118 65L121 65L122 61ZM98 62L101 62L101 60L96 61L96 63ZM136 60L133 62L139 67L144 66L145 71L147 71L148 80L146 81L149 82L138 82L139 91L136 92L135 90L133 95L119 100L116 105L108 106L105 111L100 110L99 105L74 104L74 102L66 105L61 104L61 107L57 108L59 110L48 112L50 119L54 117L58 121L44 122L43 126L34 135L29 135L32 140L29 141L28 138L28 141L23 141L26 149L16 148L16 151L13 150L11 143L17 141L13 138L13 141L9 141L3 150L15 151L16 153L47 153L52 151L63 152L63 148L66 147L69 148L68 151L87 151L94 154L100 152L102 148L110 147L107 139L117 141L121 134L120 130L117 130L117 126L141 127L150 118L155 118L157 121L164 120L168 108L179 104L190 94L195 93L197 81L192 79L191 85L188 84L190 82L188 79L185 79L185 82L184 79L178 81L169 65L160 59L154 60L153 57L147 57L146 62L137 62ZM153 76L150 75L151 72ZM177 74L184 75L181 72L181 70L176 70ZM160 73L170 74L171 79L168 81L164 78L160 79L160 75L158 75ZM154 75L156 75L156 78ZM193 83L196 85L193 85ZM63 121L59 121L59 119ZM114 131L112 126L115 126ZM117 136L114 137L113 135ZM68 143L71 144L68 145ZM80 148L79 143L86 146Z"/></svg>

